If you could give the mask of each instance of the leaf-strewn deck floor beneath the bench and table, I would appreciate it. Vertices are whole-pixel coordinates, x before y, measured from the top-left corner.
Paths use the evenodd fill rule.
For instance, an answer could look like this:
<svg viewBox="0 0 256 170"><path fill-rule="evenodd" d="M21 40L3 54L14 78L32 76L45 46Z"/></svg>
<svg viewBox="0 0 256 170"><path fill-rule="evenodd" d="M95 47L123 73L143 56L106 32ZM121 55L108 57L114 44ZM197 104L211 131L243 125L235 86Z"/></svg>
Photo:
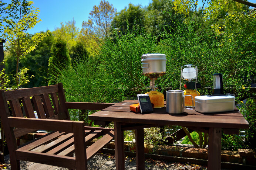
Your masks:
<svg viewBox="0 0 256 170"><path fill-rule="evenodd" d="M10 162L9 155L4 157L6 164ZM136 160L134 157L126 157L125 159L126 170L136 170ZM157 160L146 160L146 170L185 170L185 169L198 169L195 164L180 164L161 162ZM8 170L11 169L10 165L7 166ZM21 170L68 170L66 168L50 166L45 164L20 161ZM88 170L115 170L115 157L113 155L98 153L88 161ZM200 166L199 170L207 170L206 167Z"/></svg>

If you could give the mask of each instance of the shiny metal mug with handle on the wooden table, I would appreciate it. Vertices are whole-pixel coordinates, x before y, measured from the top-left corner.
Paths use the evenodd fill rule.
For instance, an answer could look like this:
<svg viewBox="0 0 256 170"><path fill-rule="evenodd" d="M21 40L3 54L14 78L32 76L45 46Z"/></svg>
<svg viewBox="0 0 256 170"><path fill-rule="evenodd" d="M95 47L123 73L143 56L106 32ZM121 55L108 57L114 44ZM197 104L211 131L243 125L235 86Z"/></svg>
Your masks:
<svg viewBox="0 0 256 170"><path fill-rule="evenodd" d="M184 95L184 91L182 90L169 90L166 91L166 112L171 114L179 114L183 113L185 109L185 96L191 95ZM192 105L194 105L194 100L192 98Z"/></svg>

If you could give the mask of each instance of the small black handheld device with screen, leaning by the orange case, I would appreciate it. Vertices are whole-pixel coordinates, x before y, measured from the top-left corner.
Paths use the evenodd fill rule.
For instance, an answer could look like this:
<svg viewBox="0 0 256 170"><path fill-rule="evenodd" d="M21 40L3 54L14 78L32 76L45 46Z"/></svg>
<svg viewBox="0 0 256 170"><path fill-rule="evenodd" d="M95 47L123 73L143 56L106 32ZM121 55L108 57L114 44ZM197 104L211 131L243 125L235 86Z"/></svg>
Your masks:
<svg viewBox="0 0 256 170"><path fill-rule="evenodd" d="M152 113L154 111L148 94L137 94L137 97L141 114Z"/></svg>

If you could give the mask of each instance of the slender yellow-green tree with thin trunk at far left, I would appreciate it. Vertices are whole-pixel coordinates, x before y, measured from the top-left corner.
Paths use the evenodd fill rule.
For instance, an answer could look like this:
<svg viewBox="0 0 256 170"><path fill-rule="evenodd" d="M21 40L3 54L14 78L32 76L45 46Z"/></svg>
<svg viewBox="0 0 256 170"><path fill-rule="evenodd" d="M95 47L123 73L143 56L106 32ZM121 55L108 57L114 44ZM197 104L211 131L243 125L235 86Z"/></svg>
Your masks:
<svg viewBox="0 0 256 170"><path fill-rule="evenodd" d="M4 7L6 15L4 18L3 37L8 41L6 49L15 54L16 59L16 84L18 86L18 71L20 59L26 57L27 53L36 48L48 32L39 32L29 35L27 30L33 28L41 20L38 18L39 10L32 6L32 1L12 0Z"/></svg>

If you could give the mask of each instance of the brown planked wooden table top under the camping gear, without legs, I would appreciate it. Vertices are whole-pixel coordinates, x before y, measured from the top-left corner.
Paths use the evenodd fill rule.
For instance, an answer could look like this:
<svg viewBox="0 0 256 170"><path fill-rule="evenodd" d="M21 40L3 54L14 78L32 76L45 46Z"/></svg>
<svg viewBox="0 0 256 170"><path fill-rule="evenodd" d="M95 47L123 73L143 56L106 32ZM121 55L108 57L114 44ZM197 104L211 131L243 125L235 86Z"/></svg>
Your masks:
<svg viewBox="0 0 256 170"><path fill-rule="evenodd" d="M231 129L247 129L248 122L238 109L230 112L200 113L195 110L185 110L182 114L168 114L166 107L154 108L154 113L140 114L130 111L129 105L138 100L125 100L101 111L89 115L96 121L123 122L152 125L179 125L197 127L215 127Z"/></svg>

